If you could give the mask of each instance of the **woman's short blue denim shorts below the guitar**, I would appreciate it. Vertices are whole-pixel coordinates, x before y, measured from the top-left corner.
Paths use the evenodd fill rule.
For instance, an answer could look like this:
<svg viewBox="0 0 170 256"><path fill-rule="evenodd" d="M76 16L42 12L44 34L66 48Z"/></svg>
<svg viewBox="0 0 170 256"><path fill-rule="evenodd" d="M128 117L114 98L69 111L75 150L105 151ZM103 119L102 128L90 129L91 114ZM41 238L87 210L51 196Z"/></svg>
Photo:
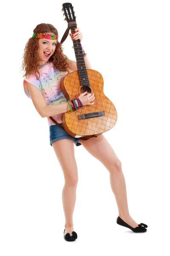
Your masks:
<svg viewBox="0 0 170 256"><path fill-rule="evenodd" d="M60 123L60 125L62 125L62 123ZM60 128L58 125L50 125L50 145L52 146L52 143L54 141L62 140L62 139L73 140L76 146L82 145L81 143L78 142L80 140L79 138L74 138L70 136L66 131L62 130L62 128Z"/></svg>

